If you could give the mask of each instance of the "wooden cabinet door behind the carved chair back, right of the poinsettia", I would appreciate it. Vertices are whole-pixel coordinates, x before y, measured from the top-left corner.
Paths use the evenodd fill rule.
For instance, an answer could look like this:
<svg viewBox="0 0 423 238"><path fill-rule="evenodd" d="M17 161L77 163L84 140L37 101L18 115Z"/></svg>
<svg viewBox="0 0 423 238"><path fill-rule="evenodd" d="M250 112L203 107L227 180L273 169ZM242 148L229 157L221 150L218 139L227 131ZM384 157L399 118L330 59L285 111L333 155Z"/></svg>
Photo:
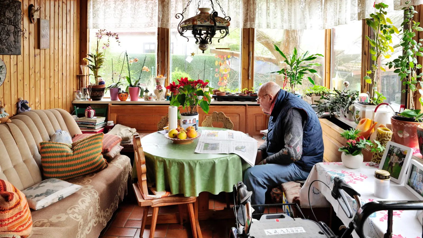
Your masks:
<svg viewBox="0 0 423 238"><path fill-rule="evenodd" d="M246 127L245 127L245 106L238 106L238 105L231 105L231 106L223 106L223 105L210 105L209 113L206 114L203 112L203 110L199 109L199 119L198 124L203 122L204 119L206 119L206 116L210 116L213 112L223 112L225 113L225 116L229 117L231 119L231 122L233 123L233 130L239 130L244 133L246 133ZM223 127L222 123L214 123L213 127Z"/></svg>

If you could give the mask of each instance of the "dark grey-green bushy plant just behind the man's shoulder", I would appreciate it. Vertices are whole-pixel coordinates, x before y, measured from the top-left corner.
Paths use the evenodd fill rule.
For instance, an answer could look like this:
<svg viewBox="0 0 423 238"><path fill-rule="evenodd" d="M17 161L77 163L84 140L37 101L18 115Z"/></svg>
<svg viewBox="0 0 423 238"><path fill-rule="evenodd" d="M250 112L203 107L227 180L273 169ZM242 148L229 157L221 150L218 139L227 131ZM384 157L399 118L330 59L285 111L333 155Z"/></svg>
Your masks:
<svg viewBox="0 0 423 238"><path fill-rule="evenodd" d="M324 112L329 112L329 115L332 117L338 112L341 112L341 109L344 114L353 113L349 110L349 107L354 104L354 101L356 101L357 98L358 91L351 91L345 89L343 91L340 91L334 88L333 93L323 95L320 97L320 100L317 101L319 102L319 104L317 104L317 106L319 107L317 115L321 116Z"/></svg>

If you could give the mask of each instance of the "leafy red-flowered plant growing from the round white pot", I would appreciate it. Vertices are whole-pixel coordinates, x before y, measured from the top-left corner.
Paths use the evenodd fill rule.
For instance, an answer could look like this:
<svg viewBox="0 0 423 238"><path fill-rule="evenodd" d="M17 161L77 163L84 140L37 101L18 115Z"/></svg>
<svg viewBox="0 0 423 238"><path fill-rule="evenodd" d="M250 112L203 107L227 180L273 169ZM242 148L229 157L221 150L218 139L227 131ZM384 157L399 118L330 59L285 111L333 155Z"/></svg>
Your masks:
<svg viewBox="0 0 423 238"><path fill-rule="evenodd" d="M346 138L346 144L339 148L339 151L345 152L347 155L359 155L366 146L373 146L373 144L366 140L363 136L359 136L360 130L345 130L341 133L343 138Z"/></svg>

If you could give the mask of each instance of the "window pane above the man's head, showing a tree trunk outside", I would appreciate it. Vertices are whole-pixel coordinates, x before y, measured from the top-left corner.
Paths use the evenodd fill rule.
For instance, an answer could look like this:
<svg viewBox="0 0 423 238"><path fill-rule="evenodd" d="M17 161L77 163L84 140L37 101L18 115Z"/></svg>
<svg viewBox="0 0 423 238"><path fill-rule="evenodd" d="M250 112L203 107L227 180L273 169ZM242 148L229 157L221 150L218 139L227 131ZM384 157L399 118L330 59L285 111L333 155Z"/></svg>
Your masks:
<svg viewBox="0 0 423 238"><path fill-rule="evenodd" d="M283 86L284 77L278 74L269 74L285 66L285 60L275 50L274 44L278 45L285 55L292 54L294 47L299 53L309 51L310 54L324 54L324 30L277 30L277 29L255 29L254 43L254 87L258 88L261 83L273 81ZM322 66L316 66L317 74L324 76L324 58L318 57L315 63ZM313 75L316 85L322 85L323 80ZM302 87L299 86L296 91L302 88L308 88L311 84L305 77Z"/></svg>

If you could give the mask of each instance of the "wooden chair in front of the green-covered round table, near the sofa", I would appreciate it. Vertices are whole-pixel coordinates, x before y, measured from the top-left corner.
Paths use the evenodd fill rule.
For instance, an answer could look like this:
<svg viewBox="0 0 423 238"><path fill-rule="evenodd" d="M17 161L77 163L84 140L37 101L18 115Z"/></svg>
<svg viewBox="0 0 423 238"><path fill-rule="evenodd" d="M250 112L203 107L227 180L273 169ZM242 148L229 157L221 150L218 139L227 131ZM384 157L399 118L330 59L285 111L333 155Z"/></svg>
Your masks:
<svg viewBox="0 0 423 238"><path fill-rule="evenodd" d="M153 208L153 214L151 216L151 228L150 238L154 238L154 231L156 230L157 215L159 214L159 207L179 205L179 219L182 224L182 213L181 205L187 204L188 217L191 222L192 237L202 238L200 224L198 223L198 209L197 209L197 197L195 196L182 196L173 195L166 196L157 199L144 199L143 194L148 194L147 188L147 169L146 169L146 158L144 157L143 147L141 146L141 139L139 136L134 137L134 154L135 154L135 166L137 166L137 177L138 183L132 184L132 187L137 198L138 205L144 207L143 221L141 222L140 238L143 237L144 229L146 227L146 221L148 216L148 209Z"/></svg>

